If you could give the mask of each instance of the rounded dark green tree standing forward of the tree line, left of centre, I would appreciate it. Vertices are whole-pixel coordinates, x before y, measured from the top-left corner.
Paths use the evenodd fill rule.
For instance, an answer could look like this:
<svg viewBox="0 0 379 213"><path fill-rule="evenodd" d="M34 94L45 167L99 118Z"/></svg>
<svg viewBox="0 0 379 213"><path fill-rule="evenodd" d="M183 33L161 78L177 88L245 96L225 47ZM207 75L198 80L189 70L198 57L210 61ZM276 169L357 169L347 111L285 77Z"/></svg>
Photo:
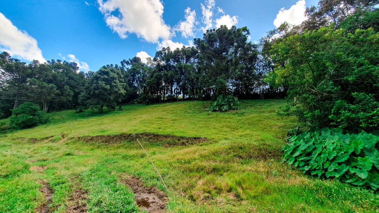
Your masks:
<svg viewBox="0 0 379 213"><path fill-rule="evenodd" d="M113 67L101 68L89 78L80 102L90 108L98 108L103 112L103 107L114 109L125 94L125 83L120 70Z"/></svg>

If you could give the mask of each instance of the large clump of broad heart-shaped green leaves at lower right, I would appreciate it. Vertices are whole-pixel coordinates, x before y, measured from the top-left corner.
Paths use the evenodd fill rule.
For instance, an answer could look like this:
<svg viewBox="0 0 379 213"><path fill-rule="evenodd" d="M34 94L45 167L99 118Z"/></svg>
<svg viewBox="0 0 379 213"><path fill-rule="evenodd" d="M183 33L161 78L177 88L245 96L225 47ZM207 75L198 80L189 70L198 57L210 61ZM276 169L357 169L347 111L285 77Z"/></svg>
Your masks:
<svg viewBox="0 0 379 213"><path fill-rule="evenodd" d="M324 128L293 136L282 151L283 161L319 178L332 178L378 191L379 136L343 134Z"/></svg>

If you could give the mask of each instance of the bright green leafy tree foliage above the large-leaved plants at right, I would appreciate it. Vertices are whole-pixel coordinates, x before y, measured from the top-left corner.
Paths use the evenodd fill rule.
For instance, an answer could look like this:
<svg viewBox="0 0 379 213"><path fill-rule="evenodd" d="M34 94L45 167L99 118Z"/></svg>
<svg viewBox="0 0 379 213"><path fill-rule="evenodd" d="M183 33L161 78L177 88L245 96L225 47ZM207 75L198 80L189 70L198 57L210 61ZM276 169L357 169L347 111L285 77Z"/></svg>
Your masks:
<svg viewBox="0 0 379 213"><path fill-rule="evenodd" d="M291 36L273 45L276 68L266 80L288 88L288 99L296 106L293 111L308 129L375 130L378 39L372 29L346 34L331 27Z"/></svg>

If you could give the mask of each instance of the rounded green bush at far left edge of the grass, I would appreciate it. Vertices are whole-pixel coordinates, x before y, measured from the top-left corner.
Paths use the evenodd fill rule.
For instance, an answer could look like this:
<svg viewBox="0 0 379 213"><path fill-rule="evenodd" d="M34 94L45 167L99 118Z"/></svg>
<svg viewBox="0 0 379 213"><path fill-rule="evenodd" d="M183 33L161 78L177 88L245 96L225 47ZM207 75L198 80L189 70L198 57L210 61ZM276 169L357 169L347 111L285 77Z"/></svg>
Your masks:
<svg viewBox="0 0 379 213"><path fill-rule="evenodd" d="M12 110L12 116L9 118L9 121L12 128L24 129L38 124L45 124L48 119L46 113L41 111L38 105L25 102L17 109Z"/></svg>

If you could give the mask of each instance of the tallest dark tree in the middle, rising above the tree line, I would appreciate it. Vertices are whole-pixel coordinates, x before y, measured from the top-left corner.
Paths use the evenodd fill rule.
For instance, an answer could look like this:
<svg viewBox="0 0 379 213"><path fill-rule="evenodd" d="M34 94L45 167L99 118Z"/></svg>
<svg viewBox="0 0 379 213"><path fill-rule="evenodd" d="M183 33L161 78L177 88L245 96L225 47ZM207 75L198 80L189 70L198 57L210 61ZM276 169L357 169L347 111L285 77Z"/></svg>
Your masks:
<svg viewBox="0 0 379 213"><path fill-rule="evenodd" d="M202 73L201 81L205 87L225 88L233 77L238 77L236 72L241 72L242 69L252 70L254 65L241 66L243 60L250 60L252 63L254 61L251 58L254 58L252 53L254 45L247 42L249 34L246 27L233 26L228 29L223 25L218 29L207 30L202 39L194 39L194 44L200 53L197 69ZM243 59L240 55L242 52L249 52L252 55Z"/></svg>

